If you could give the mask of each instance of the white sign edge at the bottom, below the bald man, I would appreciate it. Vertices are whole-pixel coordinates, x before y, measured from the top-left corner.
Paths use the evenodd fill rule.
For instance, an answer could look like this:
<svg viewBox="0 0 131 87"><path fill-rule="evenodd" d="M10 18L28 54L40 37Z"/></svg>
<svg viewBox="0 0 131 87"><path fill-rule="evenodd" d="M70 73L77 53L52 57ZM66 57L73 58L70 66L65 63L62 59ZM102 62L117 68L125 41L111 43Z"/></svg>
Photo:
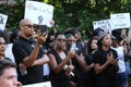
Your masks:
<svg viewBox="0 0 131 87"><path fill-rule="evenodd" d="M51 87L51 83L50 82L45 82L45 83L25 85L25 86L22 86L22 87Z"/></svg>

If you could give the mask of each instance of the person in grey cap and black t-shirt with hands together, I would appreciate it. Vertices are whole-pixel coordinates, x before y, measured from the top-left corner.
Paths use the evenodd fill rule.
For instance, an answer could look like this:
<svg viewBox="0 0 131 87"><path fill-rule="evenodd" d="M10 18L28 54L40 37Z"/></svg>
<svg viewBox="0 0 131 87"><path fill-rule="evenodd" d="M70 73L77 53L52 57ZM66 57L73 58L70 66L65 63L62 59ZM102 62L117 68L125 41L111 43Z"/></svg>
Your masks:
<svg viewBox="0 0 131 87"><path fill-rule="evenodd" d="M97 87L117 87L118 55L110 48L111 36L107 32L98 35L98 50L94 53L94 69Z"/></svg>

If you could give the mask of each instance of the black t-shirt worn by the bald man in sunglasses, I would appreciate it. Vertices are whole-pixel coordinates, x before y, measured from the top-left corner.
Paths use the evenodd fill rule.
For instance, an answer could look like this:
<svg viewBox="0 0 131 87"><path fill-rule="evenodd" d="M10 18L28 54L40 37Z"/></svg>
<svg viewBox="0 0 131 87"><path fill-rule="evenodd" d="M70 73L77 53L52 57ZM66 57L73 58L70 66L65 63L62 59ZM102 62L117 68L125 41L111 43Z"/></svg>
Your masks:
<svg viewBox="0 0 131 87"><path fill-rule="evenodd" d="M43 82L43 65L27 67L26 75L22 75L20 72L20 67L19 67L20 63L23 62L24 58L26 58L31 54L34 47L35 47L34 40L27 40L23 37L20 37L13 44L12 51L13 51L15 62L16 62L16 71L17 71L17 75L19 75L17 78L23 85ZM39 59L41 57L41 54L45 54L45 52L43 51L41 48L39 48L37 59Z"/></svg>

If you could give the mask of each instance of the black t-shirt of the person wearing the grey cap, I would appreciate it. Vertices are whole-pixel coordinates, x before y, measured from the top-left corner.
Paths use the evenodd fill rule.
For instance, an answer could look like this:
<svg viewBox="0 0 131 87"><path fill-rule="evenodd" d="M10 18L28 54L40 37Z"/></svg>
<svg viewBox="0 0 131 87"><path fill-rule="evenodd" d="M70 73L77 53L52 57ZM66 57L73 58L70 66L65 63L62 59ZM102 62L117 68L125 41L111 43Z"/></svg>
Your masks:
<svg viewBox="0 0 131 87"><path fill-rule="evenodd" d="M111 52L114 59L117 59L117 52L112 49L105 51L103 49L98 49L94 55L94 63L99 63L103 65L107 61L107 54ZM117 87L117 70L112 64L109 64L100 74L97 75L96 83L97 87Z"/></svg>

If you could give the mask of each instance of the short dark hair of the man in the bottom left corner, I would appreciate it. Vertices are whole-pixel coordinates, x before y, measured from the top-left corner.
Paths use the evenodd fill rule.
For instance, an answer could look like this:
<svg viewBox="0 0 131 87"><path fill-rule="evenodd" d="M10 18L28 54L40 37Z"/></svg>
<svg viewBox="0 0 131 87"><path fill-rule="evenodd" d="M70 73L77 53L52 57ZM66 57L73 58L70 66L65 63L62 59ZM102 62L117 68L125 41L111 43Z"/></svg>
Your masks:
<svg viewBox="0 0 131 87"><path fill-rule="evenodd" d="M1 59L0 60L0 76L3 74L4 70L14 67L16 69L16 64L12 61Z"/></svg>

